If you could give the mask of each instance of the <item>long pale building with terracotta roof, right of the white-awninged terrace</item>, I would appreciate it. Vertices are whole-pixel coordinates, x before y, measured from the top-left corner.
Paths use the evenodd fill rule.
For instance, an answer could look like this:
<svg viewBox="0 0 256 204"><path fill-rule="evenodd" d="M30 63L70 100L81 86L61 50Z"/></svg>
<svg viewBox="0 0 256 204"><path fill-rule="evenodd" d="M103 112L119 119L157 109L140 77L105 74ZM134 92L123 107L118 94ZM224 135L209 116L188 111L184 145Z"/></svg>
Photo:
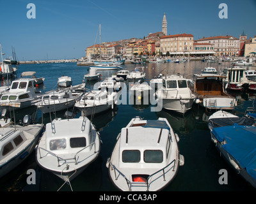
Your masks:
<svg viewBox="0 0 256 204"><path fill-rule="evenodd" d="M195 40L195 43L211 43L214 45L214 52L216 55L238 55L239 39L233 36L214 36L209 38L201 38Z"/></svg>

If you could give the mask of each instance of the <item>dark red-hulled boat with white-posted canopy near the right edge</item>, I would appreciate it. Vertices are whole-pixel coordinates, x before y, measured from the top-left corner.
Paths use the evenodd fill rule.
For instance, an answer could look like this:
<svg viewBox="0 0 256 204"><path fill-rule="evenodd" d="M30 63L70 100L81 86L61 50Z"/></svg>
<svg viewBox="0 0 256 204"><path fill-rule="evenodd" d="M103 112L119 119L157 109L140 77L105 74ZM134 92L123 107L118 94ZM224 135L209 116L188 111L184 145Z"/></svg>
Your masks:
<svg viewBox="0 0 256 204"><path fill-rule="evenodd" d="M223 80L225 89L230 91L256 91L256 82L246 77L246 68L234 66L225 68Z"/></svg>

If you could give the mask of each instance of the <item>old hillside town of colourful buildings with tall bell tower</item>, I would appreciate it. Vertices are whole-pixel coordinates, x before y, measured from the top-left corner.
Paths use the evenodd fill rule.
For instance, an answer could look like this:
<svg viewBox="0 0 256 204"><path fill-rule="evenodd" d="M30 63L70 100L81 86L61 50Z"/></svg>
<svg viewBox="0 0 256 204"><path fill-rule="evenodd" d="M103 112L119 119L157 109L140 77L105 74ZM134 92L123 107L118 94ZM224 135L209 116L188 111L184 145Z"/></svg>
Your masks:
<svg viewBox="0 0 256 204"><path fill-rule="evenodd" d="M254 54L253 54L254 52ZM255 55L256 36L247 39L244 32L239 38L234 36L210 36L194 40L193 34L167 35L167 20L164 13L162 31L149 33L143 39L130 38L104 42L86 48L86 59L96 59L122 55L125 58L147 55L149 57L248 57Z"/></svg>

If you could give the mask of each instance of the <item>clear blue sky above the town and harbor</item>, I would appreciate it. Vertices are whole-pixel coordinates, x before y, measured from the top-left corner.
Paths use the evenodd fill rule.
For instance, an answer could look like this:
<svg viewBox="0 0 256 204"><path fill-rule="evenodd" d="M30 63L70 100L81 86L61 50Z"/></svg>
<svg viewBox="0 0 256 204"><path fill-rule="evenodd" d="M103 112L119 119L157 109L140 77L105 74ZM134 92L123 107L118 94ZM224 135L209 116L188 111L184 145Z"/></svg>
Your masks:
<svg viewBox="0 0 256 204"><path fill-rule="evenodd" d="M36 6L28 19L27 4ZM219 18L219 4L228 6L228 18ZM101 41L143 38L162 30L166 13L168 34L203 36L256 35L256 0L0 0L0 43L6 57L12 47L20 61L73 59ZM99 43L99 34L96 40Z"/></svg>

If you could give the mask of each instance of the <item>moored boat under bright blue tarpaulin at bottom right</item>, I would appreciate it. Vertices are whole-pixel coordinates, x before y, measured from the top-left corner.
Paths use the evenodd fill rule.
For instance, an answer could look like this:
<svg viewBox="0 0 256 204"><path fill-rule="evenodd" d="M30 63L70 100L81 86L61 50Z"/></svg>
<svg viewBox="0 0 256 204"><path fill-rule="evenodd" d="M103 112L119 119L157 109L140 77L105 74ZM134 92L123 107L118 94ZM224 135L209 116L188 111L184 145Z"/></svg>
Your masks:
<svg viewBox="0 0 256 204"><path fill-rule="evenodd" d="M256 127L234 124L214 128L211 139L228 164L256 188Z"/></svg>

